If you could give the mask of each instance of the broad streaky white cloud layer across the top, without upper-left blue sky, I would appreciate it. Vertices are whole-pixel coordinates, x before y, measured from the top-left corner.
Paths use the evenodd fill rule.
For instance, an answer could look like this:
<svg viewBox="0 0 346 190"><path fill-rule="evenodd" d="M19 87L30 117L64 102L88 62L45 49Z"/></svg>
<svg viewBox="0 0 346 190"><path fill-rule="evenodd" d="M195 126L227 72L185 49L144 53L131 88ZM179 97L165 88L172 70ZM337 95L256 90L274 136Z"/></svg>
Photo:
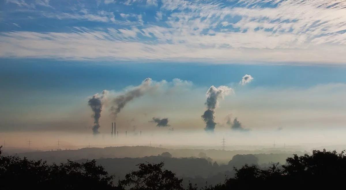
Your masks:
<svg viewBox="0 0 346 190"><path fill-rule="evenodd" d="M135 2L138 1L125 4L130 6ZM154 1L146 1L151 2ZM242 0L232 6L163 0L155 19L162 20L165 11L167 20L158 25L146 22L147 16L140 12L120 13L126 21L116 20L107 11L91 14L81 9L79 13L51 13L45 16L113 22L122 28L65 33L2 32L0 47L4 50L0 56L344 64L345 6L345 1L322 0ZM171 10L174 12L166 13ZM138 34L147 38L141 39ZM33 35L35 39L28 37ZM62 47L61 41L65 41ZM28 42L40 45L31 47ZM39 49L47 44L52 47ZM97 50L91 52L94 47Z"/></svg>

